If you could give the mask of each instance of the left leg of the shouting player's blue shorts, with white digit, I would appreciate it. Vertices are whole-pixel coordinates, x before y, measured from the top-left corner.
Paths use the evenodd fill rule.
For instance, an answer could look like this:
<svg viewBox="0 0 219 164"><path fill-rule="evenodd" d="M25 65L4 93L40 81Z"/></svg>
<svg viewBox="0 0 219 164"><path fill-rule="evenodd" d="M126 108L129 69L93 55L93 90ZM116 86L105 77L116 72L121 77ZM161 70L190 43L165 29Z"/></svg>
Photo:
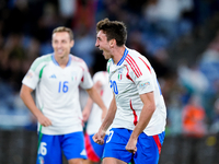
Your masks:
<svg viewBox="0 0 219 164"><path fill-rule="evenodd" d="M132 159L132 153L129 153L125 148L130 137L131 130L123 128L113 128L110 131L108 138L103 152L103 159L113 157L129 163ZM112 160L113 160L112 159ZM108 161L108 160L107 160Z"/></svg>

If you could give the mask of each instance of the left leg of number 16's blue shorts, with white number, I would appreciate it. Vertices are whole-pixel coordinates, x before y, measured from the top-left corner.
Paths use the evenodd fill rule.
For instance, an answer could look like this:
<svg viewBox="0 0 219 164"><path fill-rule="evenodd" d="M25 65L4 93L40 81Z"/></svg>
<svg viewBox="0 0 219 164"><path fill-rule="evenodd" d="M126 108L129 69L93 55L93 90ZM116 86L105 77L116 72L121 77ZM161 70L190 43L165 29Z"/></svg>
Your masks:
<svg viewBox="0 0 219 164"><path fill-rule="evenodd" d="M62 163L59 136L43 134L37 151L36 164L42 164L42 163L56 163L56 164Z"/></svg>

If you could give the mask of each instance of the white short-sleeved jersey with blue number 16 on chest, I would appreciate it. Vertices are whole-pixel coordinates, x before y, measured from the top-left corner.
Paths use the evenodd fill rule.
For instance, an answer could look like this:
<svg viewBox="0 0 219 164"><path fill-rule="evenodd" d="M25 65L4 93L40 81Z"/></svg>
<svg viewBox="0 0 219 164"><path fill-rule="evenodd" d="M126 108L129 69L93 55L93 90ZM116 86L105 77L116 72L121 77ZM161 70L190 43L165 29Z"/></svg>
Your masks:
<svg viewBox="0 0 219 164"><path fill-rule="evenodd" d="M51 120L51 126L42 128L43 133L66 134L82 131L79 85L82 89L93 86L82 59L69 55L67 67L61 68L54 54L39 57L32 63L22 83L36 89L36 106Z"/></svg>

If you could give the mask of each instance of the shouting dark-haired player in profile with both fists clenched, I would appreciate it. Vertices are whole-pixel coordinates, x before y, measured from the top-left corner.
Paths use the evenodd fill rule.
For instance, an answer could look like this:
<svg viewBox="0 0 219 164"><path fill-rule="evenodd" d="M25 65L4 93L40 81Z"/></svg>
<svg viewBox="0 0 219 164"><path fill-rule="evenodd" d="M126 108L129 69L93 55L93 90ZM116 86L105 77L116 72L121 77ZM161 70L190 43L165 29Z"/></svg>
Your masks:
<svg viewBox="0 0 219 164"><path fill-rule="evenodd" d="M155 72L146 57L125 46L123 22L104 19L96 24L95 46L108 59L114 92L107 115L93 140L103 144L104 164L158 164L164 140L166 108ZM112 124L113 122L113 124Z"/></svg>

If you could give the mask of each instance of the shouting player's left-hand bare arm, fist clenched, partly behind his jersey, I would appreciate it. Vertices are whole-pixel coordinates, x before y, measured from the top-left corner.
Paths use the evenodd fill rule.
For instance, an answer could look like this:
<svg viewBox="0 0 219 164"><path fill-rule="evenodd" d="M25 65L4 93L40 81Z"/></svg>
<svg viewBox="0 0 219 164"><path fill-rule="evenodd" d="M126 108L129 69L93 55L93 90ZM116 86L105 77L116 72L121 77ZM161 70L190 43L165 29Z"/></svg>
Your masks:
<svg viewBox="0 0 219 164"><path fill-rule="evenodd" d="M117 110L116 101L115 101L115 96L113 96L107 115L106 115L103 124L101 125L99 132L93 136L94 142L96 142L99 144L104 143L105 132L108 129L108 127L112 125L115 114L116 114L116 110Z"/></svg>

